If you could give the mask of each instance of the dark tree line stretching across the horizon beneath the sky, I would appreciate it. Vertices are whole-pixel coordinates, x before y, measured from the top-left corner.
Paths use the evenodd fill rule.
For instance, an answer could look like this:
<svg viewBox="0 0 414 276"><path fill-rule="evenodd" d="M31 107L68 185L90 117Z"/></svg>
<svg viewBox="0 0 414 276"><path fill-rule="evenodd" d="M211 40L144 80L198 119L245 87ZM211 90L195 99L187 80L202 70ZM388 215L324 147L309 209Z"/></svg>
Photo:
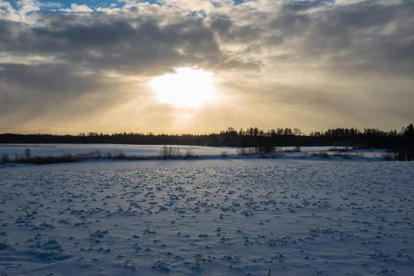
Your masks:
<svg viewBox="0 0 414 276"><path fill-rule="evenodd" d="M228 128L218 133L168 135L152 132L122 132L103 134L81 132L79 135L12 134L0 135L1 144L135 144L135 145L193 145L230 147L280 146L354 146L359 148L404 148L414 150L414 127L384 131L377 128L332 128L308 134L299 128ZM411 155L410 153L409 155Z"/></svg>

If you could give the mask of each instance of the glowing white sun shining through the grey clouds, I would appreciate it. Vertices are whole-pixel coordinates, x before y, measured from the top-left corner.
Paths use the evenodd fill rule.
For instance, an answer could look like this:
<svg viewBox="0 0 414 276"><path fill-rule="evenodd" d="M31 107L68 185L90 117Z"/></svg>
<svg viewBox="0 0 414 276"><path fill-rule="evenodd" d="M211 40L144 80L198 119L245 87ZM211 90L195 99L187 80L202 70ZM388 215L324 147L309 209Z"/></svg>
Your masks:
<svg viewBox="0 0 414 276"><path fill-rule="evenodd" d="M150 88L161 103L178 108L198 108L216 99L214 74L196 68L175 68L175 72L150 81Z"/></svg>

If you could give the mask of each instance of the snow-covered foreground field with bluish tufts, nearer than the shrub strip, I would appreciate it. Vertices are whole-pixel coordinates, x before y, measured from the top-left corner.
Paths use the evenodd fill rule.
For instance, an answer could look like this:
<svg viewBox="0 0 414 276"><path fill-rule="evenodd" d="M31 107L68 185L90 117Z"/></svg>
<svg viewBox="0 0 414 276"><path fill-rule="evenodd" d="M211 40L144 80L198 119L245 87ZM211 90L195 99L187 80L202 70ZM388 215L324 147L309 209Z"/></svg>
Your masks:
<svg viewBox="0 0 414 276"><path fill-rule="evenodd" d="M3 167L0 269L11 276L412 275L413 165L244 159Z"/></svg>

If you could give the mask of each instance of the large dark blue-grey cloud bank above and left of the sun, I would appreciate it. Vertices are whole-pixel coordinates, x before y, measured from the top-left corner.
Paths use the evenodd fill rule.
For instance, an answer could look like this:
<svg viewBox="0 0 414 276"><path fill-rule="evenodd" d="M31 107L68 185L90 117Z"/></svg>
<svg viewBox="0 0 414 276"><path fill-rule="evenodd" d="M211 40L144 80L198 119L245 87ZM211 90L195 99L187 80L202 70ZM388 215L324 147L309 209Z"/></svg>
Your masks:
<svg viewBox="0 0 414 276"><path fill-rule="evenodd" d="M157 75L177 66L219 67L228 60L201 19L161 25L161 18L132 20L94 14L48 14L48 26L0 21L1 48L9 55L53 55L95 70Z"/></svg>

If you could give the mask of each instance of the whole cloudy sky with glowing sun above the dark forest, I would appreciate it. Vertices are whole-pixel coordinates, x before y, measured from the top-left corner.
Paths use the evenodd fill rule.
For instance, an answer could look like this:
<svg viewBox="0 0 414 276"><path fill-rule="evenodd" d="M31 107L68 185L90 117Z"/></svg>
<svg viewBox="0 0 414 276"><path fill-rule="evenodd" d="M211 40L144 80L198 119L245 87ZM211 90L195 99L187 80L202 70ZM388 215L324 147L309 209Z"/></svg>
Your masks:
<svg viewBox="0 0 414 276"><path fill-rule="evenodd" d="M413 0L0 0L0 133L400 130L413 26Z"/></svg>

